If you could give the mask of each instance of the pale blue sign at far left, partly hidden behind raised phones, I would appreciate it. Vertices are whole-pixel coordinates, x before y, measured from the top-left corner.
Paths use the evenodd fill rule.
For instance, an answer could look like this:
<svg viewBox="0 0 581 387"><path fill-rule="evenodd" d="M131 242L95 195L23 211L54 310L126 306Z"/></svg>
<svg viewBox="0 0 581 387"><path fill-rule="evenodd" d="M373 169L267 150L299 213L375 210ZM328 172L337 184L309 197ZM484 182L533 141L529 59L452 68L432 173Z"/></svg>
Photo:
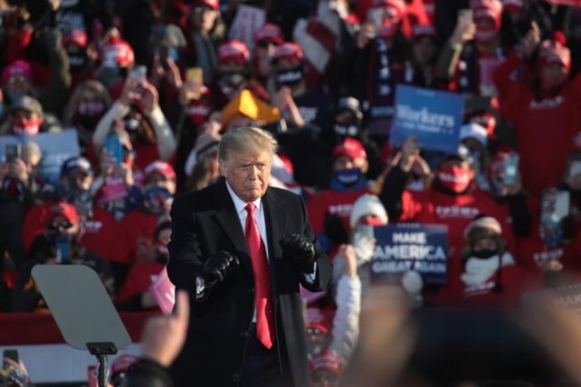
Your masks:
<svg viewBox="0 0 581 387"><path fill-rule="evenodd" d="M79 138L75 129L58 133L40 133L36 136L0 136L0 160L5 160L4 153L8 144L36 142L42 151L42 178L58 186L60 167L64 160L81 153Z"/></svg>

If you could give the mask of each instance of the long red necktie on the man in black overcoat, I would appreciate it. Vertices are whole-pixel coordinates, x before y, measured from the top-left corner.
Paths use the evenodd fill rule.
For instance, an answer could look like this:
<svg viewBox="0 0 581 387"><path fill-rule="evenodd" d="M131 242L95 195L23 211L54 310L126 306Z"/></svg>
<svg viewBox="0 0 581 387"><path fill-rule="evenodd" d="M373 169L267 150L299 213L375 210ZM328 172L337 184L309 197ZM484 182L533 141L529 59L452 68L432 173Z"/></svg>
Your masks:
<svg viewBox="0 0 581 387"><path fill-rule="evenodd" d="M256 305L256 338L264 347L271 348L274 343L274 319L271 299L271 275L267 262L267 251L258 232L254 219L254 203L246 205L246 243L252 270L254 271L254 303Z"/></svg>

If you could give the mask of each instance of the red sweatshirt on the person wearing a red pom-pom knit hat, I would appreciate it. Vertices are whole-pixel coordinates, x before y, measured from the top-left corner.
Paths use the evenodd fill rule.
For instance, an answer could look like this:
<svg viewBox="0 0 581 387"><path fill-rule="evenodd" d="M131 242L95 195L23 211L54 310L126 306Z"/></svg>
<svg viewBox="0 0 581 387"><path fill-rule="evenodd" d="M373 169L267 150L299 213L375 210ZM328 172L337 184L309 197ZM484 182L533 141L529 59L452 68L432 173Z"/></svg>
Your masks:
<svg viewBox="0 0 581 387"><path fill-rule="evenodd" d="M511 73L521 64L512 54L494 73L500 113L517 132L517 152L523 187L532 192L557 186L565 171L567 154L581 129L581 77L567 83L557 95L536 97Z"/></svg>

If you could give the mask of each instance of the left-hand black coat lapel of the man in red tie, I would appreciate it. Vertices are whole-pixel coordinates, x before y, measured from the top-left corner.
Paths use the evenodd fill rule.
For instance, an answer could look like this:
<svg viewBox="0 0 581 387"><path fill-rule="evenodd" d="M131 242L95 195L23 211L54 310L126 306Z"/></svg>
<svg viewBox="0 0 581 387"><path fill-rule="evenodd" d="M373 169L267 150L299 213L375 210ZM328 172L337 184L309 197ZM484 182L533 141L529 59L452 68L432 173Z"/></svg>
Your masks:
<svg viewBox="0 0 581 387"><path fill-rule="evenodd" d="M252 264L250 262L248 246L246 245L244 230L240 225L240 217L236 213L234 202L232 201L232 197L230 197L230 193L228 193L224 179L221 179L221 181L217 183L216 191L216 204L219 210L215 215L215 218L218 223L220 223L225 234L230 238L230 241L236 249L236 251L231 252L240 259L240 264L244 266L249 273L252 273Z"/></svg>

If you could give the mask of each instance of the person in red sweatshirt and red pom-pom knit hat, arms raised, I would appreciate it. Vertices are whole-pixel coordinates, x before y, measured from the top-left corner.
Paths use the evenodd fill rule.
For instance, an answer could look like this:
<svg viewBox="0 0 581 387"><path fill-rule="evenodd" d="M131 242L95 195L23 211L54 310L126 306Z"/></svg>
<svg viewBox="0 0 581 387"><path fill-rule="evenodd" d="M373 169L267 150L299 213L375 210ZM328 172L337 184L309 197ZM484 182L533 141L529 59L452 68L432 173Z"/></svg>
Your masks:
<svg viewBox="0 0 581 387"><path fill-rule="evenodd" d="M530 77L512 78L513 71L532 58L536 60ZM494 73L500 114L517 135L523 188L534 195L561 184L581 127L581 78L569 79L570 72L571 51L563 33L541 42L539 27L533 24L521 50ZM547 127L552 129L547 132Z"/></svg>

